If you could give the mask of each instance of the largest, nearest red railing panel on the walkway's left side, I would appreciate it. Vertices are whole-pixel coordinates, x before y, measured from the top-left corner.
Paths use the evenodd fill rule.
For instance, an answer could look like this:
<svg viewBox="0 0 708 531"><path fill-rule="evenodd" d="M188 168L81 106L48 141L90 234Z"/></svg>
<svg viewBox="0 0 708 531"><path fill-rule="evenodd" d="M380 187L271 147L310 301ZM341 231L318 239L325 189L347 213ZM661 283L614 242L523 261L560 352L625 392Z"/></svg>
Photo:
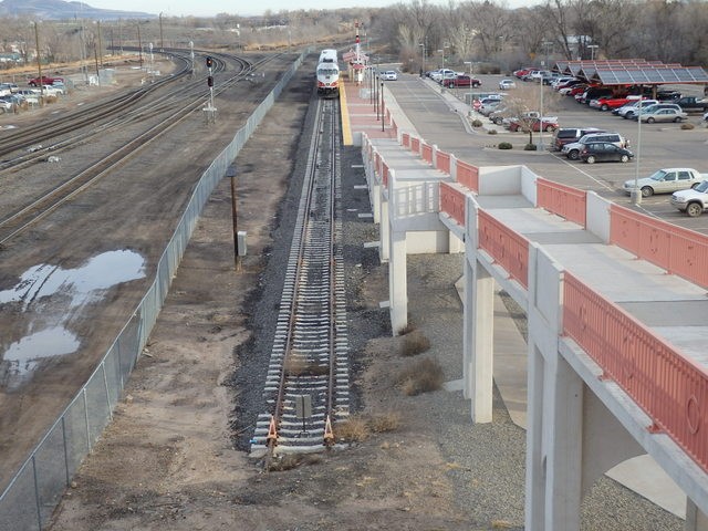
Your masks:
<svg viewBox="0 0 708 531"><path fill-rule="evenodd" d="M568 271L563 333L708 471L708 372Z"/></svg>

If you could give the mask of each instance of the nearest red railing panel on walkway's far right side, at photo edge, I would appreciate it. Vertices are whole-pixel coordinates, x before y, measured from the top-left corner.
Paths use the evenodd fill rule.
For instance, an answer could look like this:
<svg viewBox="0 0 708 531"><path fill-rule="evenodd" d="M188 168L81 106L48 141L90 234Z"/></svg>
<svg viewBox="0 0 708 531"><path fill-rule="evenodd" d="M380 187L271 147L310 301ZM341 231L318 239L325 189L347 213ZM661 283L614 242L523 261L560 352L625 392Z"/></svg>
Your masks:
<svg viewBox="0 0 708 531"><path fill-rule="evenodd" d="M613 205L610 242L669 273L708 287L708 237Z"/></svg>

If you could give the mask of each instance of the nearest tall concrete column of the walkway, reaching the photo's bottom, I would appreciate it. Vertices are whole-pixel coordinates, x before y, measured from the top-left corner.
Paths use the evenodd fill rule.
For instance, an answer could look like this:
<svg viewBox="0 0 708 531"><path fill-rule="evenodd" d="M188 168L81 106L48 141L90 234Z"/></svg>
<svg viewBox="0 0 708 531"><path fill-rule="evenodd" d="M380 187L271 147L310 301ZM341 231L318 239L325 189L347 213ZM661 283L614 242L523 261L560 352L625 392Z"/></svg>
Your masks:
<svg viewBox="0 0 708 531"><path fill-rule="evenodd" d="M580 529L583 381L558 350L562 273L540 248L529 253L528 531Z"/></svg>

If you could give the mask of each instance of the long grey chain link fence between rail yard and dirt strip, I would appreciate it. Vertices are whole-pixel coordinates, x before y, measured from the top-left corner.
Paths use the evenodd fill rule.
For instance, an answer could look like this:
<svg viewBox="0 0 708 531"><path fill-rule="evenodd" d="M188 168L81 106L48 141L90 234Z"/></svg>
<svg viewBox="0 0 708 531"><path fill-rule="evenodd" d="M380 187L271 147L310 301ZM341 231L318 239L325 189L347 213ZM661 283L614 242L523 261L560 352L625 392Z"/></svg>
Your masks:
<svg viewBox="0 0 708 531"><path fill-rule="evenodd" d="M202 174L163 253L154 283L98 367L37 445L0 496L0 531L41 531L83 458L111 421L125 383L147 344L169 284L211 191L302 64L303 52Z"/></svg>

